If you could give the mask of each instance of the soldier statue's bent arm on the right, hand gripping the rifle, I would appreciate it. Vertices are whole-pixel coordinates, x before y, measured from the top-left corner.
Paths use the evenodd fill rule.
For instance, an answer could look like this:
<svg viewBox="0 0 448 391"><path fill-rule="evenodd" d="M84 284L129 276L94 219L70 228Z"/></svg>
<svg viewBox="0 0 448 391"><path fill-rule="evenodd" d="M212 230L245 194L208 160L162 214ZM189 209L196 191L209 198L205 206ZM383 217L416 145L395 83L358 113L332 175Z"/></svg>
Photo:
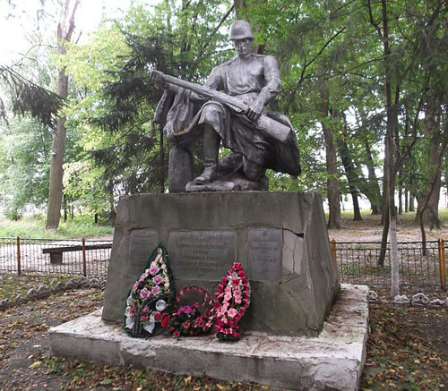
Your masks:
<svg viewBox="0 0 448 391"><path fill-rule="evenodd" d="M247 113L249 119L254 122L262 115L264 106L281 91L279 65L273 56L266 55L263 58L263 72L266 85L254 100L254 103L249 107Z"/></svg>

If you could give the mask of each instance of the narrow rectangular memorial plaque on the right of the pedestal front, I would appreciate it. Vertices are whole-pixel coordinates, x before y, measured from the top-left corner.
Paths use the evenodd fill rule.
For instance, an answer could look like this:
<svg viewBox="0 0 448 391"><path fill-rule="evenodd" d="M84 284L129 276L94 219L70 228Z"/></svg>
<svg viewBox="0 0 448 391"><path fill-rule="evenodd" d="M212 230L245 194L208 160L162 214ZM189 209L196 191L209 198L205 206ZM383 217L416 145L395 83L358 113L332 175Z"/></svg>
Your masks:
<svg viewBox="0 0 448 391"><path fill-rule="evenodd" d="M280 281L281 251L280 228L249 228L247 241L249 278L254 281Z"/></svg>

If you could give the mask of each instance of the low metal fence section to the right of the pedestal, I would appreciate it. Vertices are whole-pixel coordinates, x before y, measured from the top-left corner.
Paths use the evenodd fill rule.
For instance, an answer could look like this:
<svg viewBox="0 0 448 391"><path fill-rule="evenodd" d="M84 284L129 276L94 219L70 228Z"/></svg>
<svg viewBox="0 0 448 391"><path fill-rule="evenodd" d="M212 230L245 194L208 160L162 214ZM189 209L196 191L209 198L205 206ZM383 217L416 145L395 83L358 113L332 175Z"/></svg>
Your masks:
<svg viewBox="0 0 448 391"><path fill-rule="evenodd" d="M446 285L446 244L439 240L399 242L400 285ZM390 244L385 247L384 265L379 265L381 242L335 242L332 253L340 281L349 284L390 285Z"/></svg>

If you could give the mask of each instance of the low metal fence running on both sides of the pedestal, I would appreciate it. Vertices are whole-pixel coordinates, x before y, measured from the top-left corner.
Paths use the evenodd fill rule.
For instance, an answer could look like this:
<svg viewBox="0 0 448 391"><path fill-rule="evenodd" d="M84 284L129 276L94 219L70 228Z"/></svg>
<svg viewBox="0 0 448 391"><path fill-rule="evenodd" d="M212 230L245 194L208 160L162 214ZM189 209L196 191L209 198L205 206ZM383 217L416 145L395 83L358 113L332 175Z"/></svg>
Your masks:
<svg viewBox="0 0 448 391"><path fill-rule="evenodd" d="M385 246L384 265L379 265L381 242L332 241L332 256L340 282L390 285L390 244ZM442 239L399 242L401 285L446 287L445 249ZM107 276L112 241L0 238L0 272Z"/></svg>

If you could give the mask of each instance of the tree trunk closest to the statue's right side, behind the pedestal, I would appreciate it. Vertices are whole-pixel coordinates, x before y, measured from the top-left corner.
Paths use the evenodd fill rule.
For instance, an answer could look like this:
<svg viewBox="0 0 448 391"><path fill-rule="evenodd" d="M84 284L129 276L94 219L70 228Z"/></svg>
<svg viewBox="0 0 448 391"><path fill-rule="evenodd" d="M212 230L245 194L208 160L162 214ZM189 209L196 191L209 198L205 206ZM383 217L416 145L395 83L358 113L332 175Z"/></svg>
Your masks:
<svg viewBox="0 0 448 391"><path fill-rule="evenodd" d="M328 195L328 228L340 229L340 186L338 182L338 165L336 157L336 146L334 145L334 136L332 130L325 123L325 118L329 115L329 94L328 89L323 84L321 88L320 110L323 115L322 129L325 142L325 160L328 173L327 195Z"/></svg>

